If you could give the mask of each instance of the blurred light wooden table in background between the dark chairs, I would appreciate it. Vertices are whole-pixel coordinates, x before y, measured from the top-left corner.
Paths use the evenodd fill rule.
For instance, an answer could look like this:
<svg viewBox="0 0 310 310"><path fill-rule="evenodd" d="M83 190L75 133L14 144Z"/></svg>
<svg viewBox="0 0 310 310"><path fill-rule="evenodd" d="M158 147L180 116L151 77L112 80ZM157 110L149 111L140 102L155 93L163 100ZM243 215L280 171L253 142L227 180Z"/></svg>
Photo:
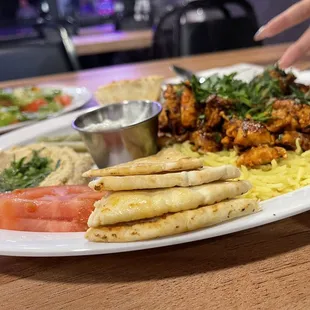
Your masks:
<svg viewBox="0 0 310 310"><path fill-rule="evenodd" d="M148 48L152 46L152 30L115 31L101 33L101 29L82 30L72 38L79 56L95 55Z"/></svg>

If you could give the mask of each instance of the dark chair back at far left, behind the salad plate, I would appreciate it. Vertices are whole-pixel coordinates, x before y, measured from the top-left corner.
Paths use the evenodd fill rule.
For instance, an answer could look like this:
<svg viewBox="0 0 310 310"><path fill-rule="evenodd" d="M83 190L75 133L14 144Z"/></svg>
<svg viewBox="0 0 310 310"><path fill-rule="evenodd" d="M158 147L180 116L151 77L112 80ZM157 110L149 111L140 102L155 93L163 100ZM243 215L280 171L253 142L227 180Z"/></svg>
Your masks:
<svg viewBox="0 0 310 310"><path fill-rule="evenodd" d="M51 26L42 26L42 36ZM67 30L53 26L58 34L52 40L46 38L29 43L0 43L0 81L21 79L79 70L74 45Z"/></svg>

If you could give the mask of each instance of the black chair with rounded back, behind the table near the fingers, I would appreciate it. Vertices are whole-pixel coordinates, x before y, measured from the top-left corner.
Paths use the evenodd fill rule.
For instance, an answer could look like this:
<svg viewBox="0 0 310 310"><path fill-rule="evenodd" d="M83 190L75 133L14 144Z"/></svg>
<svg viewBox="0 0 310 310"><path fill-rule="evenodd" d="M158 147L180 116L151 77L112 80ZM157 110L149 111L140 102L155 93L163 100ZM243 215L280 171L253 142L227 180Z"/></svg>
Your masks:
<svg viewBox="0 0 310 310"><path fill-rule="evenodd" d="M233 7L232 7L233 6ZM215 10L214 18L203 21L186 20L188 12ZM234 11L241 11L236 15ZM186 56L220 50L237 49L259 45L253 40L258 29L257 19L252 6L245 0L197 0L184 7L178 7L167 15L174 16L172 25L172 50L168 57ZM162 20L167 17L164 16ZM162 21L161 21L162 22ZM164 37L161 22L154 35L158 50L158 40Z"/></svg>

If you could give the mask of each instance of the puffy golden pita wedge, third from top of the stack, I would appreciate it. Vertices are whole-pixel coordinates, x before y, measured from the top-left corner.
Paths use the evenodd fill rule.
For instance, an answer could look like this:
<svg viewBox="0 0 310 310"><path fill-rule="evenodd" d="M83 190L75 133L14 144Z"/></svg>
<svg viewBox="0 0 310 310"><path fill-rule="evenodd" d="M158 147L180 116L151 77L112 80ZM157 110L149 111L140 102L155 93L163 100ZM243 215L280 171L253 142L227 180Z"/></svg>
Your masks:
<svg viewBox="0 0 310 310"><path fill-rule="evenodd" d="M152 218L235 198L251 189L248 181L217 182L188 188L115 192L95 203L88 226Z"/></svg>

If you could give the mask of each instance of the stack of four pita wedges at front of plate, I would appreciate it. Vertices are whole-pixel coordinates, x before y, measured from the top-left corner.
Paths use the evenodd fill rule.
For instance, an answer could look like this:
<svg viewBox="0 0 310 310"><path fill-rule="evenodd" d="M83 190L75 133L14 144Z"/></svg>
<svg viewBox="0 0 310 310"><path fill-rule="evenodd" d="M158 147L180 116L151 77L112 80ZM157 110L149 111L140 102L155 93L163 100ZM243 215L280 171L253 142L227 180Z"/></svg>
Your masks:
<svg viewBox="0 0 310 310"><path fill-rule="evenodd" d="M110 194L95 203L86 238L130 242L175 235L259 210L255 200L236 198L251 184L233 181L238 168L204 167L198 158L167 149L126 164L90 170L89 186Z"/></svg>

